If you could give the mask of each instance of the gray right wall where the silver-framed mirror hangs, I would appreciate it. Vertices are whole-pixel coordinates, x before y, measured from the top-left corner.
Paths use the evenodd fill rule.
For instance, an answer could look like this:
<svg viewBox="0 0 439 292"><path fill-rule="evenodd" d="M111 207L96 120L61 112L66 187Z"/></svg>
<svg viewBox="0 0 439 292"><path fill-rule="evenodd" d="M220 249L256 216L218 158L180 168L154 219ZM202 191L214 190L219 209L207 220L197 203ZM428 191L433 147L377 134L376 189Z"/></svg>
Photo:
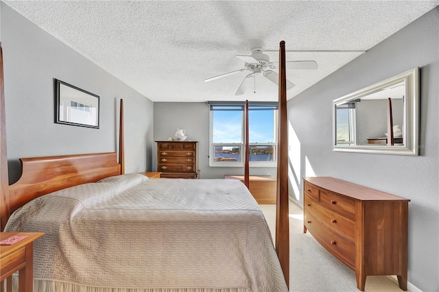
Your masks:
<svg viewBox="0 0 439 292"><path fill-rule="evenodd" d="M439 291L438 49L435 8L288 102L290 195L302 201L301 178L315 174L410 199L408 278L423 291ZM331 101L416 66L420 156L332 151Z"/></svg>

